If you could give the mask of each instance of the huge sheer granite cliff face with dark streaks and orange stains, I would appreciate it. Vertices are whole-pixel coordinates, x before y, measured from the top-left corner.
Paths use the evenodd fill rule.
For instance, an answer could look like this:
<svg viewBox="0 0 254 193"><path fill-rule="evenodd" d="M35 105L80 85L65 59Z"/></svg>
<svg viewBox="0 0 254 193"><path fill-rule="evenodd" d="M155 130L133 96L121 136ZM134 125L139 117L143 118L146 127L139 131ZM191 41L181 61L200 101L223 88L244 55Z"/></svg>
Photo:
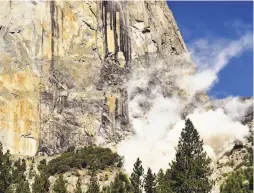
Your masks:
<svg viewBox="0 0 254 193"><path fill-rule="evenodd" d="M166 2L4 1L0 41L0 140L25 155L131 134L130 72L187 52Z"/></svg>

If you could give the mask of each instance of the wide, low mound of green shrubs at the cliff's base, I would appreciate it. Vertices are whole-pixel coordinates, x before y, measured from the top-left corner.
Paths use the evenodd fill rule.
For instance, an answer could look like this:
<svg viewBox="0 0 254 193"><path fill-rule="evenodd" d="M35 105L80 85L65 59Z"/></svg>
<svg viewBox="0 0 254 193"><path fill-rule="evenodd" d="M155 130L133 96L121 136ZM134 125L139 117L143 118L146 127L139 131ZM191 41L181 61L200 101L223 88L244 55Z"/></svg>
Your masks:
<svg viewBox="0 0 254 193"><path fill-rule="evenodd" d="M57 173L65 173L72 168L86 168L89 166L91 169L93 164L98 162L98 169L105 169L110 166L122 166L122 158L113 153L108 148L101 147L84 147L76 152L65 152L56 159L48 163L47 171L50 175Z"/></svg>

